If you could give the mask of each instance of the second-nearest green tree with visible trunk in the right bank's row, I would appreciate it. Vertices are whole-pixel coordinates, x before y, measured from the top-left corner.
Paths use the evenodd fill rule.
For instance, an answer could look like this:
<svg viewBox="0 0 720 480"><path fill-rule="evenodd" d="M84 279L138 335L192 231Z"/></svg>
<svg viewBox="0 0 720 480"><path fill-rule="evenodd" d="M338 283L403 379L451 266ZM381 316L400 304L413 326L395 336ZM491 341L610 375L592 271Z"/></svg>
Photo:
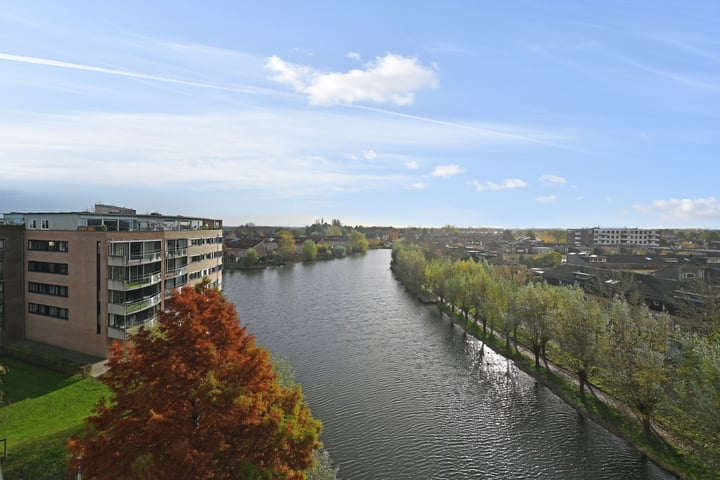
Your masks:
<svg viewBox="0 0 720 480"><path fill-rule="evenodd" d="M586 300L580 287L557 289L557 341L569 354L570 367L578 376L580 395L593 367L605 356L605 311L595 300Z"/></svg>

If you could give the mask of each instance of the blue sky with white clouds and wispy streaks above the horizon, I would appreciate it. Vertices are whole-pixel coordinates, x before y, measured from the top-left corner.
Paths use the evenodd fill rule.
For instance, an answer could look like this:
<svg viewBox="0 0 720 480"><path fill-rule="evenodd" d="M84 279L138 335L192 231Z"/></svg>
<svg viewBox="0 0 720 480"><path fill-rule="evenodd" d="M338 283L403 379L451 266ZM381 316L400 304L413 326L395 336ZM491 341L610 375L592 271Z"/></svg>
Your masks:
<svg viewBox="0 0 720 480"><path fill-rule="evenodd" d="M720 2L0 0L0 213L720 228Z"/></svg>

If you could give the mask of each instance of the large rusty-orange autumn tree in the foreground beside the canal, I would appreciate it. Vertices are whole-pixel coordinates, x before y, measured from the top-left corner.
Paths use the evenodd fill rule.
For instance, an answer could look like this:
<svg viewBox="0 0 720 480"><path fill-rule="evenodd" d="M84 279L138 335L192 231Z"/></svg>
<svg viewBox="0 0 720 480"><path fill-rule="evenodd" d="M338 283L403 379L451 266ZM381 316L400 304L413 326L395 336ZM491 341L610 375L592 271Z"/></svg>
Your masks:
<svg viewBox="0 0 720 480"><path fill-rule="evenodd" d="M185 288L155 328L113 344L112 392L68 442L88 479L304 479L321 423L283 388L220 292Z"/></svg>

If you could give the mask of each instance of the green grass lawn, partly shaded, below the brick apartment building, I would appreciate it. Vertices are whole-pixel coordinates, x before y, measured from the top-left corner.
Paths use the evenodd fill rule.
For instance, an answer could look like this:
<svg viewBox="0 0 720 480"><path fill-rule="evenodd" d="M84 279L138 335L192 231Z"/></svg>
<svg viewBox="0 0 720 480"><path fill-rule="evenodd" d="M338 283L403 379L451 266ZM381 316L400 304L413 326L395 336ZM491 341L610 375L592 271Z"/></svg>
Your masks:
<svg viewBox="0 0 720 480"><path fill-rule="evenodd" d="M5 405L0 408L0 438L7 439L5 478L68 478L65 443L82 430L83 420L107 394L92 378L68 376L10 358L3 376Z"/></svg>

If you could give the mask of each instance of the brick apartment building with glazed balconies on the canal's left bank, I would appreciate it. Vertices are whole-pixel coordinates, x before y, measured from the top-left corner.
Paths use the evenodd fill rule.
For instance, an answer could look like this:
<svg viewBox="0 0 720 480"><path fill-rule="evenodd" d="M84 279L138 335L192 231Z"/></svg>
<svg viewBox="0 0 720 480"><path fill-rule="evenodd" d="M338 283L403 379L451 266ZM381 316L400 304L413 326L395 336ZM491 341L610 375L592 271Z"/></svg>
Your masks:
<svg viewBox="0 0 720 480"><path fill-rule="evenodd" d="M222 221L92 212L5 213L0 225L0 341L33 340L106 357L152 325L176 288L222 288Z"/></svg>

